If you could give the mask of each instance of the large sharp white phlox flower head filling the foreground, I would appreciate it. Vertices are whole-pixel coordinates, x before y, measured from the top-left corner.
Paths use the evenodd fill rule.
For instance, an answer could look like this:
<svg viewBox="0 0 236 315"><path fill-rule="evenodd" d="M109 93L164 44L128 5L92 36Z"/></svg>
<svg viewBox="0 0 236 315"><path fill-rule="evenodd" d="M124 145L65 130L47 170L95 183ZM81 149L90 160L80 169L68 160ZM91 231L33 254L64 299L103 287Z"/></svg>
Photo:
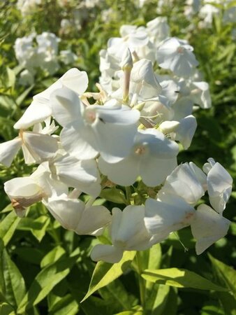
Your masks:
<svg viewBox="0 0 236 315"><path fill-rule="evenodd" d="M165 18L147 28L121 27L121 36L101 51L99 92L86 92L87 73L73 68L34 96L15 123L19 136L0 145L0 162L9 167L22 148L25 162L38 168L7 181L6 193L18 216L42 201L64 228L79 235L101 235L108 227L112 245L96 245L93 260L118 262L124 251L149 248L188 225L202 253L226 235L230 221L222 212L232 179L212 159L204 172L193 163L177 166L177 141L184 148L191 144L193 104L210 106L208 85L199 80L193 48L165 38ZM158 66L166 73L156 74ZM59 136L52 119L61 126ZM128 204L127 186L140 179L155 191L163 186L156 199ZM126 186L123 211L114 208L110 214L93 205L110 185ZM214 209L201 204L195 210L206 191ZM82 193L91 196L87 203L79 199Z"/></svg>

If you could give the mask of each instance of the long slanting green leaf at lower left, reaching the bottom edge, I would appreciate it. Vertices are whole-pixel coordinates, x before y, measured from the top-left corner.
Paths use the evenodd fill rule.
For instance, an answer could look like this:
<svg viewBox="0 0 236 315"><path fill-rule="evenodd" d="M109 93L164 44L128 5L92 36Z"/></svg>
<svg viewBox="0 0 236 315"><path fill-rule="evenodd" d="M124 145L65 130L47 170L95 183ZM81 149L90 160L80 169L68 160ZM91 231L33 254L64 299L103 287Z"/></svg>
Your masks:
<svg viewBox="0 0 236 315"><path fill-rule="evenodd" d="M57 260L41 270L31 284L27 294L24 295L17 312L24 314L26 309L43 300L43 298L50 293L52 288L67 276L77 259L78 255Z"/></svg>

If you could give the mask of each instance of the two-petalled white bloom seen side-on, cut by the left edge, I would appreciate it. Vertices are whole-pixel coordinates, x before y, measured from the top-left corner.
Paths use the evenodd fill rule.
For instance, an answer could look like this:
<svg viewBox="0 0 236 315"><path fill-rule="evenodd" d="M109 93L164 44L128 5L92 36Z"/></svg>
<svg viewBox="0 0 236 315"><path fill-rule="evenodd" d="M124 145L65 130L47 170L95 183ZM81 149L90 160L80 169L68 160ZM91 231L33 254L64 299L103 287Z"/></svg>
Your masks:
<svg viewBox="0 0 236 315"><path fill-rule="evenodd" d="M10 167L20 148L25 162L31 164L54 158L58 144L57 139L48 134L20 130L19 137L0 144L0 162Z"/></svg>

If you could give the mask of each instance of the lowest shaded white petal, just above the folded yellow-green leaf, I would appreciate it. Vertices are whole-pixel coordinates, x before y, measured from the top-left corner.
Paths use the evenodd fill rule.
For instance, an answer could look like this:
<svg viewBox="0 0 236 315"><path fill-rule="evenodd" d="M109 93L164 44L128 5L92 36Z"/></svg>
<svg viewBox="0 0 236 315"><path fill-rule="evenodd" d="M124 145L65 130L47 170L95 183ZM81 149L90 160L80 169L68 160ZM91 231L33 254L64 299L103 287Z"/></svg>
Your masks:
<svg viewBox="0 0 236 315"><path fill-rule="evenodd" d="M91 250L91 259L94 261L103 260L115 264L121 260L122 256L122 249L111 245L98 244Z"/></svg>

